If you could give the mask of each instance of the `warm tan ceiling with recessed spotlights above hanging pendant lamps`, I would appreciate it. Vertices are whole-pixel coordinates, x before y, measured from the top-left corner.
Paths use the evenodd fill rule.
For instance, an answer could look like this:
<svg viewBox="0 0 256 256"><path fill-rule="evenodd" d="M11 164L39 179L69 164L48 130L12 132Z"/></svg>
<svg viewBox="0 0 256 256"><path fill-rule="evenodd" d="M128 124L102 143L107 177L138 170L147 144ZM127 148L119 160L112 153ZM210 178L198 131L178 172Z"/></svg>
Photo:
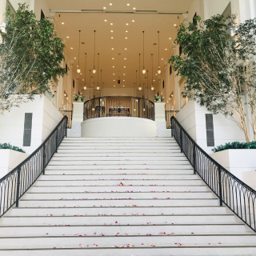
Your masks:
<svg viewBox="0 0 256 256"><path fill-rule="evenodd" d="M47 0L51 10L103 10L126 11L157 10L186 12L190 0ZM110 2L112 6L110 6ZM130 3L130 6L127 6ZM89 85L89 70L94 66L94 30L96 30L96 58L95 66L98 70L98 57L100 55L99 70L102 70L102 82L105 87L133 87L136 83L136 70L138 67L138 54L141 53L141 84L147 83L146 75L142 74L143 43L142 31L145 31L145 67L149 70L149 85L152 84L151 54L154 54L154 80L158 81L158 30L160 31L160 66L163 71L164 62L170 58L170 49L173 44L178 23L178 14L110 14L110 13L62 13L54 14L58 36L66 44L66 51L74 67L78 66L78 30L81 32L80 66L85 79L85 53L87 53L86 85ZM107 22L105 22L107 20ZM134 22L132 22L134 20ZM64 22L64 25L62 25ZM113 23L111 26L110 23ZM126 23L129 25L126 26ZM110 31L114 32L111 33ZM126 30L128 32L126 32ZM66 38L66 37L69 38ZM114 39L111 39L114 37ZM126 39L127 37L127 39ZM172 38L171 40L169 38ZM156 45L154 45L156 44ZM71 47L74 49L71 50ZM114 50L111 50L114 48ZM127 50L125 50L125 48ZM76 59L75 59L76 58ZM114 58L114 60L112 60ZM126 59L125 59L126 58ZM163 60L162 60L163 59ZM113 68L114 66L114 68ZM126 68L124 67L126 66ZM93 74L92 76L93 77ZM118 85L118 79L121 84ZM115 81L113 81L115 80ZM125 80L125 81L123 81ZM97 86L98 73L91 78L91 84ZM101 82L99 75L99 84ZM139 79L138 79L139 85Z"/></svg>

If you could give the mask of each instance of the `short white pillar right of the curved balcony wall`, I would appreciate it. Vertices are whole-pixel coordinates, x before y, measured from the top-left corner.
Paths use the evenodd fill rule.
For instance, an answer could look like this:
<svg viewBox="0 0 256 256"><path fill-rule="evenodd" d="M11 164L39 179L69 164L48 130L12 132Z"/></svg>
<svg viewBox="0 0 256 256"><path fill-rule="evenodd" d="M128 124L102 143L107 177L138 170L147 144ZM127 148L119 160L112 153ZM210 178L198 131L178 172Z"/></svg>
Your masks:
<svg viewBox="0 0 256 256"><path fill-rule="evenodd" d="M158 137L166 137L166 103L155 102L154 103L154 121L158 126Z"/></svg>

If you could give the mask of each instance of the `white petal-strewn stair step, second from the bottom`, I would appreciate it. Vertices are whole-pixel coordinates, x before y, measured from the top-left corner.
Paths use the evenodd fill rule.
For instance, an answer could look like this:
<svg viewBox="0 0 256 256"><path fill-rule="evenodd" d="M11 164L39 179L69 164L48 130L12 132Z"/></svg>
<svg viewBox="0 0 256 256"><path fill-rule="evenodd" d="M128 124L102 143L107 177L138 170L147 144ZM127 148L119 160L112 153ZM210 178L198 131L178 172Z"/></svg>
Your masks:
<svg viewBox="0 0 256 256"><path fill-rule="evenodd" d="M118 245L131 244L134 246L142 246L143 244L147 244L150 247L150 244L154 244L155 246L175 246L175 243L178 241L182 242L182 246L190 247L190 246L206 246L207 244L211 244L212 246L230 246L231 244L236 244L236 246L255 246L256 247L256 236L255 235L234 235L234 236L214 236L209 235L206 237L201 236L190 236L184 235L180 238L176 238L173 236L145 236L142 238L138 237L57 237L57 238L0 238L0 249L6 249L9 246L13 246L14 249L32 249L33 245L36 245L37 248L50 248L58 247L58 248L79 248L79 244L81 246L94 247L94 244L99 245L100 247L113 247ZM178 241L177 241L178 240ZM180 242L178 242L180 243ZM147 247L146 246L146 247Z"/></svg>

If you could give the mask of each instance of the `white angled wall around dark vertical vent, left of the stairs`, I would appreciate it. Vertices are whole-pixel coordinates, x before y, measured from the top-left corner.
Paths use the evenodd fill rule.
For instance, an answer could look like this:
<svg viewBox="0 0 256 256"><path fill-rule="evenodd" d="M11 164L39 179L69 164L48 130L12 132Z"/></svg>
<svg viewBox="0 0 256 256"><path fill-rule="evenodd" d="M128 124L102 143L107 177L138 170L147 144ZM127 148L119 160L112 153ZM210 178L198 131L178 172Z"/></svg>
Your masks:
<svg viewBox="0 0 256 256"><path fill-rule="evenodd" d="M32 113L30 146L23 146L25 113ZM0 115L0 143L10 143L31 154L54 130L62 117L44 95L35 95L33 101L22 103L20 107Z"/></svg>

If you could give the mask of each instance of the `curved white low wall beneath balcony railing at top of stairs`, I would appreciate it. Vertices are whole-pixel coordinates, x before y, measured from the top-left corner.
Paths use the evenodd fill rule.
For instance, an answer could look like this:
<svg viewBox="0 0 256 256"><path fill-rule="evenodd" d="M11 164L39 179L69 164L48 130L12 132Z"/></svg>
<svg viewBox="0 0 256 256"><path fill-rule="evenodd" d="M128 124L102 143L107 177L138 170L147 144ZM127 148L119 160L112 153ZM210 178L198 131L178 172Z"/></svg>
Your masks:
<svg viewBox="0 0 256 256"><path fill-rule="evenodd" d="M91 118L82 122L82 137L156 137L157 122L145 118Z"/></svg>

